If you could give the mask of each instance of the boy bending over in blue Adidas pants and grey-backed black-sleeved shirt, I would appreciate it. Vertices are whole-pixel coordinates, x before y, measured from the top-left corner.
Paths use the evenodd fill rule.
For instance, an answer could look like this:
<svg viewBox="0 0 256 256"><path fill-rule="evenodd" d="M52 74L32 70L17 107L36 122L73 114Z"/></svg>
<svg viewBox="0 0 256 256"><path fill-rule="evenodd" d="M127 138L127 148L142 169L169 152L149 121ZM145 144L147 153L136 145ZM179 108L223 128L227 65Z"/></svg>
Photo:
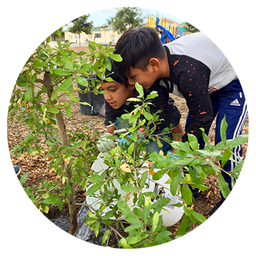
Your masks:
<svg viewBox="0 0 256 256"><path fill-rule="evenodd" d="M216 116L215 144L221 141L223 117L228 123L227 139L241 134L248 114L244 91L227 57L205 34L189 34L161 45L155 29L129 29L118 39L114 53L122 56L123 61L115 66L118 73L128 77L129 83L138 82L150 88L155 80L165 77L169 80L169 92L185 98L189 113L182 141L187 141L188 133L193 134L203 149L200 128L208 134ZM242 156L241 145L234 153ZM232 171L235 165L228 161L223 169ZM223 176L231 190L230 176ZM219 206L223 201L224 198Z"/></svg>

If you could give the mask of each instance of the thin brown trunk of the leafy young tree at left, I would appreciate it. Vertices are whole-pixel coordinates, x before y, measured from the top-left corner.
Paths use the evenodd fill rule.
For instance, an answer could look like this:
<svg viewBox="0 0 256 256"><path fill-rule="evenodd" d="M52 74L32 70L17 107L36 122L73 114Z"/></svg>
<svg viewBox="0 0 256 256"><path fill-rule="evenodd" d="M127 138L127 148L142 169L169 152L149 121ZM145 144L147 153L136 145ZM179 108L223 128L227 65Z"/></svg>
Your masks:
<svg viewBox="0 0 256 256"><path fill-rule="evenodd" d="M47 88L47 95L48 98L50 99L52 97L52 92L53 92L53 83L52 83L52 79L50 78L50 73L49 72L45 72L44 74L44 85ZM54 105L56 104L56 99L54 101L51 101L51 104ZM68 146L68 136L66 133L66 125L64 122L64 118L63 118L63 114L62 112L58 112L58 114L56 114L56 120L58 123L58 128L60 131L60 138L61 138L61 145L63 145L63 147ZM67 164L64 163L65 167L67 167ZM71 195L68 195L68 203L69 203L69 217L70 217L70 222L71 222L71 227L69 228L69 235L76 235L77 232L77 212L76 212L76 194L74 192L74 186L71 182L72 179L72 171L70 169L67 169L67 176L68 176L68 183L71 186Z"/></svg>

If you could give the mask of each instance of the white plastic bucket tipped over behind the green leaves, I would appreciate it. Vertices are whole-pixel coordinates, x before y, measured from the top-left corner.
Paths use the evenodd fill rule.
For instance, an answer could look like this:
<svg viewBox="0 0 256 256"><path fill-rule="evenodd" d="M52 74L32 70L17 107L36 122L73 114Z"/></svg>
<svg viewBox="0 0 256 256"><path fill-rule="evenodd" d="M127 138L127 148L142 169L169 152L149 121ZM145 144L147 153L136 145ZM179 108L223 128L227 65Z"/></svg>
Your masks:
<svg viewBox="0 0 256 256"><path fill-rule="evenodd" d="M104 170L106 170L108 168L108 166L103 163L104 155L105 155L105 153L99 153L97 160L91 166L91 169L93 169L93 171L96 171L96 173L98 173L98 174L101 174ZM147 163L144 163L144 166L148 167L149 165ZM157 172L158 170L159 169L154 169L155 172ZM150 172L149 172L149 178L152 179ZM155 184L155 182L153 182L152 180L147 180L146 183L149 184L149 187L144 186L144 188L142 188L142 193L155 192L155 193L157 193L157 195L161 194L163 196L163 198L168 197L171 199L170 203L164 207L164 209L166 209L166 211L162 210L160 212L160 215L163 216L163 225L165 227L173 226L175 223L179 222L182 215L184 214L183 207L171 206L171 204L182 203L182 200L177 195L176 196L171 195L171 192L168 190L169 185L165 184L165 182L168 179L169 179L169 176L167 174L165 174L163 177L161 177L161 179L157 180L157 183L160 185ZM126 192L121 190L120 184L117 182L117 180L114 180L114 185L117 188L118 193L121 194L121 196L126 195ZM98 192L98 194L99 194L99 192ZM157 200L154 200L154 201L157 201ZM99 209L102 201L93 196L87 196L87 203L91 204L91 206L93 206L93 208L95 208L97 210L97 209ZM134 207L133 197L131 196L130 200L128 200L126 203L132 209ZM109 207L107 207L106 209L104 209L103 212L108 212L110 210L111 209ZM125 217L123 216L121 219L125 219Z"/></svg>

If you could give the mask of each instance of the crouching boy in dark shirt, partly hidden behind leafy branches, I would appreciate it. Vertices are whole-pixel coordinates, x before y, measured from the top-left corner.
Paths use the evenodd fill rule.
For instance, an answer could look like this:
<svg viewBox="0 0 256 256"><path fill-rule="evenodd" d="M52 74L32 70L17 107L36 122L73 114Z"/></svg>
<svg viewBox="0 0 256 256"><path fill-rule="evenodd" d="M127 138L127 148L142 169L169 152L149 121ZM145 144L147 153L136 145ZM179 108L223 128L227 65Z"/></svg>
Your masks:
<svg viewBox="0 0 256 256"><path fill-rule="evenodd" d="M106 76L111 77L115 82L106 82L101 85L101 90L106 91L104 93L104 98L106 100L105 104L105 121L104 124L107 126L107 133L114 133L114 130L123 128L123 126L118 122L117 117L121 117L122 114L127 112L131 112L134 109L134 106L138 104L135 101L127 101L129 98L136 98L138 96L138 91L135 89L135 85L129 84L127 79L121 79L120 76L117 75L117 71L115 71L115 66L111 58L109 58L112 64L111 72L106 71ZM169 98L168 88L164 85L158 85L155 83L150 90L144 90L144 97L149 95L150 91L155 90L155 88L159 87L158 96L155 99L151 100L153 104L150 106L150 113L154 114L157 111L161 110L158 114L159 119L163 118L161 123L157 124L157 128L154 134L161 134L163 128L169 127L171 123L173 123L172 133L175 133L182 137L184 135L184 128L180 124L180 112L176 106L174 106L174 100ZM110 123L114 123L112 125ZM124 120L125 121L125 120ZM154 124L152 123L149 128L152 128ZM147 131L142 131L141 133L144 136L147 136ZM172 136L169 134L171 139ZM166 154L168 150L171 149L171 145L168 142L161 140L163 147L158 147L157 142L150 141L147 152L159 152L163 150Z"/></svg>

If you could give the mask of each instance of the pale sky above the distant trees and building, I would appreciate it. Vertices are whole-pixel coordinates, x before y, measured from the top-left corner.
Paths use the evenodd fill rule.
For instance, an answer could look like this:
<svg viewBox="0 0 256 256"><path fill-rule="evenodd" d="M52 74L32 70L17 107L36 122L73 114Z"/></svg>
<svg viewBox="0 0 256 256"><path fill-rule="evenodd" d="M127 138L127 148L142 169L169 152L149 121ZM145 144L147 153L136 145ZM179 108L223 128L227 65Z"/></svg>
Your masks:
<svg viewBox="0 0 256 256"><path fill-rule="evenodd" d="M178 18L172 14L167 14L166 12L160 12L159 10L153 10L148 8L141 8L143 14L147 17L148 14L159 14L159 17L161 18L163 15L163 18L169 18L171 20L177 21L177 23L181 23L184 20L181 18ZM103 10L97 10L96 12L90 13L90 18L88 20L93 21L94 26L101 26L104 23L106 23L106 20L110 17L115 17L115 14L117 13L116 8L108 8ZM147 22L147 19L145 19L145 22Z"/></svg>

